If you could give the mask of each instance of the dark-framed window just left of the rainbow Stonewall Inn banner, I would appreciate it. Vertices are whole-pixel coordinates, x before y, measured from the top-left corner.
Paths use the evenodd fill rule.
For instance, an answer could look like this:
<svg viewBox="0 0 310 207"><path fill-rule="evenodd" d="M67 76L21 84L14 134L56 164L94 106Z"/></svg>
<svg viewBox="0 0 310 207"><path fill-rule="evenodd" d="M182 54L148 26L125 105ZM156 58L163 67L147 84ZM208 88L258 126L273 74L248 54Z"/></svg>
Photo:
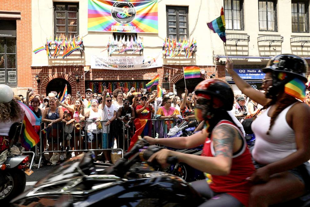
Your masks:
<svg viewBox="0 0 310 207"><path fill-rule="evenodd" d="M55 37L78 36L78 4L54 3L54 31Z"/></svg>

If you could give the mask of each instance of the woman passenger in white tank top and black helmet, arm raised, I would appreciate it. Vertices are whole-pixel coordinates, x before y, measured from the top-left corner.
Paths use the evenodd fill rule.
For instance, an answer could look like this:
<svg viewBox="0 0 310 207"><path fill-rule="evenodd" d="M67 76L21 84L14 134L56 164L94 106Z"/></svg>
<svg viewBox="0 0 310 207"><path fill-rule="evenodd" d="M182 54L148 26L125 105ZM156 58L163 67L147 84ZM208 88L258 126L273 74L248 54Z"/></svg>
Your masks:
<svg viewBox="0 0 310 207"><path fill-rule="evenodd" d="M248 178L249 206L268 206L302 196L310 185L310 109L303 100L307 62L280 54L263 68L261 93L242 80L228 60L226 69L238 88L266 109L252 122L256 141L252 151L256 171ZM289 186L289 187L288 187Z"/></svg>

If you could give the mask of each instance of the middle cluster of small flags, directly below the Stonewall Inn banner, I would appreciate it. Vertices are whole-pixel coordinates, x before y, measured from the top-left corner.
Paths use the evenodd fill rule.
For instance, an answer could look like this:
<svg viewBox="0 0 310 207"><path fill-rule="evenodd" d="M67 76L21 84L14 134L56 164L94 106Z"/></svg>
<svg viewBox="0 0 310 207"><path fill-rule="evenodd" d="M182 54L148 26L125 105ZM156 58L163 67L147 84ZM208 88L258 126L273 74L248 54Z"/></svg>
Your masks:
<svg viewBox="0 0 310 207"><path fill-rule="evenodd" d="M118 51L118 54L125 53L126 51L132 51L131 54L134 54L136 52L141 52L144 49L143 37L142 38L139 37L137 39L136 36L134 38L133 36L131 36L131 39L129 40L129 36L128 36L127 41L125 41L125 35L123 38L120 37L119 40L117 36L115 37L115 39L112 38L112 40L110 40L110 37L109 37L107 49L108 49L109 55L111 55L113 52L116 52L116 51ZM103 51L107 49L104 49Z"/></svg>

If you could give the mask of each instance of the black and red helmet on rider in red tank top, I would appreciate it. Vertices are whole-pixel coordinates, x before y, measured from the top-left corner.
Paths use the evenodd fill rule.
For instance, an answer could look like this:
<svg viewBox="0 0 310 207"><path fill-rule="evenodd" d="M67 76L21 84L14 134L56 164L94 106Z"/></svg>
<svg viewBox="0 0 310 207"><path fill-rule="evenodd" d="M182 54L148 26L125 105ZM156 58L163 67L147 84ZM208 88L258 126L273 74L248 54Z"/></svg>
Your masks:
<svg viewBox="0 0 310 207"><path fill-rule="evenodd" d="M195 94L211 95L212 106L217 109L231 111L233 106L233 92L229 84L218 79L208 79L201 81L195 88Z"/></svg>

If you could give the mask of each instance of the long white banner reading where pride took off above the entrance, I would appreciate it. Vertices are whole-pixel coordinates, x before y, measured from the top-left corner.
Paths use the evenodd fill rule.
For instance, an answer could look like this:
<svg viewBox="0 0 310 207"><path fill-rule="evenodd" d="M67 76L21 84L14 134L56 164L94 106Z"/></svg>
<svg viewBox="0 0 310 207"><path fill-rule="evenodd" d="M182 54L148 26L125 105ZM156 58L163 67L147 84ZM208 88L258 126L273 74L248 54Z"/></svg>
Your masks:
<svg viewBox="0 0 310 207"><path fill-rule="evenodd" d="M163 66L163 54L148 56L112 56L92 55L91 68L112 70L139 70Z"/></svg>

